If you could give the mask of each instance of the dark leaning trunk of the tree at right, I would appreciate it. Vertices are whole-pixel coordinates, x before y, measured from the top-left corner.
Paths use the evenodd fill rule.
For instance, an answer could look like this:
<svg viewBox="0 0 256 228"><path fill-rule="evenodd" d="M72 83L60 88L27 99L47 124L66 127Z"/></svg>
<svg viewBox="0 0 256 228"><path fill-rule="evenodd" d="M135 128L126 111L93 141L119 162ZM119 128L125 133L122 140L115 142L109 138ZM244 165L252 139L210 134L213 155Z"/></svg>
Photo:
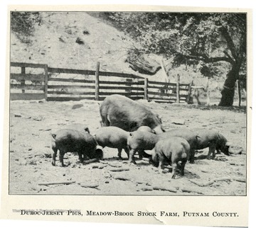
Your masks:
<svg viewBox="0 0 256 228"><path fill-rule="evenodd" d="M235 95L235 81L238 79L241 62L235 62L225 79L223 90L221 91L221 99L218 106L233 106Z"/></svg>

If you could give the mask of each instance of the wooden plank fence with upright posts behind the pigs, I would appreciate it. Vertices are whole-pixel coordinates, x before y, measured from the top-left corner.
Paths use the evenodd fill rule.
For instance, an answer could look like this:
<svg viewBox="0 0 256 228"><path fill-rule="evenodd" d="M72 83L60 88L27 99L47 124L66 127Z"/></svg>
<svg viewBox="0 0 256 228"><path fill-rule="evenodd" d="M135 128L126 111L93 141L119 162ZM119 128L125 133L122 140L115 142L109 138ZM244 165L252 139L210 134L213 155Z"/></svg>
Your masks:
<svg viewBox="0 0 256 228"><path fill-rule="evenodd" d="M10 99L46 101L102 101L118 93L159 103L188 102L191 84L151 81L134 74L48 67L47 64L11 62Z"/></svg>

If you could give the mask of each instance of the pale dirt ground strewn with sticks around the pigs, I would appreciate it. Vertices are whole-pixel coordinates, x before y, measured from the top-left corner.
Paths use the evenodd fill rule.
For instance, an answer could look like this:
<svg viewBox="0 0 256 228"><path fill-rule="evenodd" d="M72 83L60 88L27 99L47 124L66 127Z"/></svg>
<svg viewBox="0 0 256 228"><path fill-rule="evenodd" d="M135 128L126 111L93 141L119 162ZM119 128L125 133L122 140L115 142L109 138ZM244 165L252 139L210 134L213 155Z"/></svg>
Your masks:
<svg viewBox="0 0 256 228"><path fill-rule="evenodd" d="M187 163L185 175L170 178L170 166L159 172L147 161L137 165L117 159L117 149L105 148L103 161L80 164L78 155L65 154L65 167L58 157L52 166L50 133L71 123L82 123L93 132L100 127L99 104L95 101L11 101L9 193L43 195L246 195L245 108L185 106L139 101L161 115L165 130L206 127L218 130L232 144L230 156L208 160L208 149ZM75 104L82 107L73 109ZM127 171L117 172L117 168ZM41 185L46 182L70 184ZM73 182L73 183L72 183ZM86 187L87 185L87 187ZM88 188L91 186L91 188Z"/></svg>

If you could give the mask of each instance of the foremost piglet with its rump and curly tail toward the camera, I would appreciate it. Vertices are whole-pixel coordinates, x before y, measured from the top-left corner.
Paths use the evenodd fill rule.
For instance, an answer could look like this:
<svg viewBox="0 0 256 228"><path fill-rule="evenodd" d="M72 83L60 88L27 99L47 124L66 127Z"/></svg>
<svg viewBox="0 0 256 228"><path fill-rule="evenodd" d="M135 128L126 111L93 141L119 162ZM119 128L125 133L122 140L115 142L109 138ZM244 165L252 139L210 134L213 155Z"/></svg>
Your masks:
<svg viewBox="0 0 256 228"><path fill-rule="evenodd" d="M156 147L154 148L152 160L156 166L159 165L159 169L163 168L165 161L169 161L172 166L171 178L175 178L176 169L180 166L181 176L183 176L189 150L190 146L188 142L181 137L159 139L159 142L156 143Z"/></svg>

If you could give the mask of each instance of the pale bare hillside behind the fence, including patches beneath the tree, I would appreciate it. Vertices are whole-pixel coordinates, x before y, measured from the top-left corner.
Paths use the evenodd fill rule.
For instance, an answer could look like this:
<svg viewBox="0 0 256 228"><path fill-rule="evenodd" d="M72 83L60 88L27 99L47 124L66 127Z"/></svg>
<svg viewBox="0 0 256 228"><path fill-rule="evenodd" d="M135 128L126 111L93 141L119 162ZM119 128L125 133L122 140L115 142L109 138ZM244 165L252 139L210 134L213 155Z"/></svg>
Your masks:
<svg viewBox="0 0 256 228"><path fill-rule="evenodd" d="M15 33L11 33L12 62L91 70L100 62L101 71L147 76L134 72L125 62L127 50L133 45L132 40L103 18L98 18L96 13L94 15L84 12L42 12L41 15L43 22L36 25L33 36L23 37L21 42ZM207 79L200 71L193 72L193 67L188 67L187 70L185 68L181 65L171 69L170 81L176 81L176 75L180 74L181 83L193 80L196 86L206 86ZM154 76L149 77L164 81L165 74L160 69ZM220 98L224 80L224 73L221 77L210 79L209 89L212 98ZM203 90L201 93L206 96Z"/></svg>

